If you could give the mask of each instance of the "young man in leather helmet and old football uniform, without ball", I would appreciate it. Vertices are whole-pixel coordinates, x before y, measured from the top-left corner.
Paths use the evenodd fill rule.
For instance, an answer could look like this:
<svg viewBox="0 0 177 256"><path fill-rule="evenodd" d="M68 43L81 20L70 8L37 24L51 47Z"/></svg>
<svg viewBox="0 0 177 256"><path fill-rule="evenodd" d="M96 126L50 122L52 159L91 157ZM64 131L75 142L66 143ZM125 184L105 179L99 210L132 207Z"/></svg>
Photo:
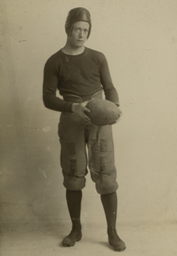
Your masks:
<svg viewBox="0 0 177 256"><path fill-rule="evenodd" d="M74 246L81 240L81 198L89 167L100 194L108 225L108 242L114 250L125 250L116 233L116 168L112 126L95 126L85 114L89 100L105 98L119 107L119 98L104 54L84 46L91 33L91 18L85 8L69 11L65 22L67 41L45 63L43 101L47 108L61 112L58 134L61 142L61 168L72 230L62 242ZM59 90L63 99L57 98ZM117 120L118 121L118 120ZM88 156L85 147L88 146Z"/></svg>

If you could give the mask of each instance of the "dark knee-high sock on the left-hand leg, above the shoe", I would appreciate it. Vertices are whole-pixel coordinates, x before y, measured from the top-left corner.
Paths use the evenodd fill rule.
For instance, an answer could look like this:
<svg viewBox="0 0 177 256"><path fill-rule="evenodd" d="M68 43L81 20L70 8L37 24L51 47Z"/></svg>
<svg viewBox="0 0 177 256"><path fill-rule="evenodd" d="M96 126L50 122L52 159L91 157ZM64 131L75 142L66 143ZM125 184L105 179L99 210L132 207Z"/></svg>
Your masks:
<svg viewBox="0 0 177 256"><path fill-rule="evenodd" d="M66 201L73 228L81 228L81 199L81 190L66 190Z"/></svg>

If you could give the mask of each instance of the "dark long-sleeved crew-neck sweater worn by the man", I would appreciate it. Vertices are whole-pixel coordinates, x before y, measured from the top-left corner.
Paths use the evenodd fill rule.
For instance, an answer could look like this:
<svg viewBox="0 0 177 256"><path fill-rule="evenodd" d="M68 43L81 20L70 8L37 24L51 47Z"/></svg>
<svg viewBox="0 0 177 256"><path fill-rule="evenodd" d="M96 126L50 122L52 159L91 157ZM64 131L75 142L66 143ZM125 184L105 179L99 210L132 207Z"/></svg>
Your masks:
<svg viewBox="0 0 177 256"><path fill-rule="evenodd" d="M104 54L85 47L78 55L64 54L59 50L45 63L43 80L43 101L47 108L61 112L71 112L73 102L65 102L57 97L75 94L91 96L104 90L105 98L119 105L119 98L108 70Z"/></svg>

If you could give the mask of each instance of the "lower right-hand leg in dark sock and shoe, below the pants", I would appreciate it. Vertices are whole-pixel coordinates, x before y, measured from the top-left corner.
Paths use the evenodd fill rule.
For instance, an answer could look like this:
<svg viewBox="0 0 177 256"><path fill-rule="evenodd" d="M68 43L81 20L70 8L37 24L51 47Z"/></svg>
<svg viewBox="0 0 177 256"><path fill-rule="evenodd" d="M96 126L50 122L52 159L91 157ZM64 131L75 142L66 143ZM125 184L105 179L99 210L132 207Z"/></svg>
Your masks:
<svg viewBox="0 0 177 256"><path fill-rule="evenodd" d="M116 233L116 214L117 214L117 195L116 192L112 194L101 194L101 202L104 206L104 213L108 225L108 242L114 247L114 250L125 250L125 243L119 238Z"/></svg>

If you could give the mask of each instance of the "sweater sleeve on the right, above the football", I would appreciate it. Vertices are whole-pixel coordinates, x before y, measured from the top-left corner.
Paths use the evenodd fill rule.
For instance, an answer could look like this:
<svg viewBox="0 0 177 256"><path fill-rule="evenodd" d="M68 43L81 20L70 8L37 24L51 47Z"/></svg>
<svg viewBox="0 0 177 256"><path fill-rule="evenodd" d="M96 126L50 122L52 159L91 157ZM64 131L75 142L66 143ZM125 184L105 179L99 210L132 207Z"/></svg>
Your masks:
<svg viewBox="0 0 177 256"><path fill-rule="evenodd" d="M108 62L104 55L100 68L100 82L104 89L105 98L110 102L116 103L117 106L120 106L119 96L117 94L116 88L112 84L112 78L109 72Z"/></svg>

